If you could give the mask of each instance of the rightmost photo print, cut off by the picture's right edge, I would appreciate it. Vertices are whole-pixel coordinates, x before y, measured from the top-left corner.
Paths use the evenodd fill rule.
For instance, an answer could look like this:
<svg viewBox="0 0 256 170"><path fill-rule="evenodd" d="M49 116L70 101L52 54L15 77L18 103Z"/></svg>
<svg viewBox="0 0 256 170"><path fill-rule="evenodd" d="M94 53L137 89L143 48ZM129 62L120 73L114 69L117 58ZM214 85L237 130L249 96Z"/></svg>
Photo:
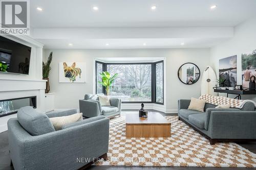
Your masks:
<svg viewBox="0 0 256 170"><path fill-rule="evenodd" d="M241 55L243 88L249 88L251 76L256 76L256 50Z"/></svg>

